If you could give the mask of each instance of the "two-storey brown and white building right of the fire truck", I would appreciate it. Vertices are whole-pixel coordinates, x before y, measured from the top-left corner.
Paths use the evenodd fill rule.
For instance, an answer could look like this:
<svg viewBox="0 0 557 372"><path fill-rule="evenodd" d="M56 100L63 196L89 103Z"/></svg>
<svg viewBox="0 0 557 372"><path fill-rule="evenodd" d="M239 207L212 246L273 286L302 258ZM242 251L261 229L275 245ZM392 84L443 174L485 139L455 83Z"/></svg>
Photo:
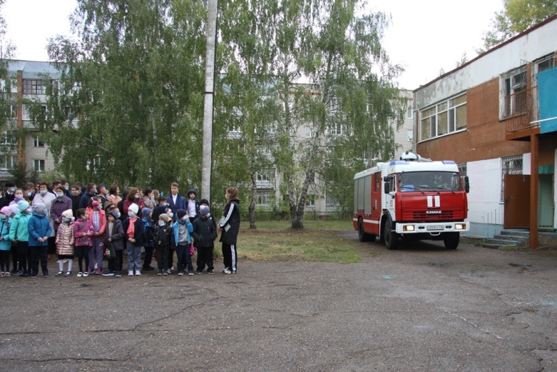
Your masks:
<svg viewBox="0 0 557 372"><path fill-rule="evenodd" d="M557 228L555 35L557 16L414 91L418 153L467 173L471 222Z"/></svg>

